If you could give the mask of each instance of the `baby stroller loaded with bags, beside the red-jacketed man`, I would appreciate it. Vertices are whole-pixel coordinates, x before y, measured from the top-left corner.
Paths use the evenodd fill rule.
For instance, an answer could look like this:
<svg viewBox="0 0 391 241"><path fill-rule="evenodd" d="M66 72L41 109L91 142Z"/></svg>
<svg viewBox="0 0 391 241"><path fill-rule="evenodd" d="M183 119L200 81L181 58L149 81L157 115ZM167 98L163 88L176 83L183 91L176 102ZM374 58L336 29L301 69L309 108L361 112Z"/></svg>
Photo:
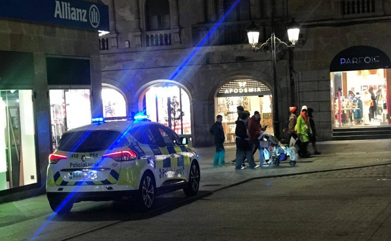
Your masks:
<svg viewBox="0 0 391 241"><path fill-rule="evenodd" d="M298 158L298 154L294 146L289 147L286 145L282 145L276 137L268 135L264 132L261 133L258 139L260 141L260 146L264 148L265 160L270 159L270 151L268 150L271 149L273 152L273 154L271 155L272 161L270 164L272 164L273 166L278 166L280 165L280 162L285 161L289 156L289 165L296 165L296 159Z"/></svg>

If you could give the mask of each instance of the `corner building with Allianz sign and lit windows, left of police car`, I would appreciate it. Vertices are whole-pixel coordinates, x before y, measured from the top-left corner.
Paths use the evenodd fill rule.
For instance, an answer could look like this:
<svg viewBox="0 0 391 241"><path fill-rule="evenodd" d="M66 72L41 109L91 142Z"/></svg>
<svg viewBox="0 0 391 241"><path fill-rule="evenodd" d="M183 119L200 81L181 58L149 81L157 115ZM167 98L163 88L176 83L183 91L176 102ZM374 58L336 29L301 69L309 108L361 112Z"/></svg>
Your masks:
<svg viewBox="0 0 391 241"><path fill-rule="evenodd" d="M48 156L63 132L102 116L98 30L109 30L108 7L69 0L99 12L75 21L59 17L56 2L1 4L3 42L11 44L0 51L0 203L45 192Z"/></svg>

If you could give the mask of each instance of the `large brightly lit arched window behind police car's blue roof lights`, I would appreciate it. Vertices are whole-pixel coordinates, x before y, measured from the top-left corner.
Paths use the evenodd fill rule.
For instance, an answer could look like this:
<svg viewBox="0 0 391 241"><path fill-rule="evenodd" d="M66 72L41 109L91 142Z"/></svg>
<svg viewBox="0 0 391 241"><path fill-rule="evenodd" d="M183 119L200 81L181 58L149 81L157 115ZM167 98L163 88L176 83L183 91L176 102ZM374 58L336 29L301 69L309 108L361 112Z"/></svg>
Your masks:
<svg viewBox="0 0 391 241"><path fill-rule="evenodd" d="M143 109L152 121L160 122L179 135L191 135L190 96L172 82L150 86L142 96Z"/></svg>

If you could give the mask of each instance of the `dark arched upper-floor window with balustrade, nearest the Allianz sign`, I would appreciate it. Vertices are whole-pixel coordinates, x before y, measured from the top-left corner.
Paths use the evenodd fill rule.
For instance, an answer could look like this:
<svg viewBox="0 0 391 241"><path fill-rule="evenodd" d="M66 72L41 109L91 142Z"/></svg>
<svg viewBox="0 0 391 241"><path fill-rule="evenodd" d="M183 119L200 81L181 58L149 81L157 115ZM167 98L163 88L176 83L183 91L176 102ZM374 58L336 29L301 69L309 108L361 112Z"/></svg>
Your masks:
<svg viewBox="0 0 391 241"><path fill-rule="evenodd" d="M147 0L145 12L148 31L170 29L170 4L168 0Z"/></svg>

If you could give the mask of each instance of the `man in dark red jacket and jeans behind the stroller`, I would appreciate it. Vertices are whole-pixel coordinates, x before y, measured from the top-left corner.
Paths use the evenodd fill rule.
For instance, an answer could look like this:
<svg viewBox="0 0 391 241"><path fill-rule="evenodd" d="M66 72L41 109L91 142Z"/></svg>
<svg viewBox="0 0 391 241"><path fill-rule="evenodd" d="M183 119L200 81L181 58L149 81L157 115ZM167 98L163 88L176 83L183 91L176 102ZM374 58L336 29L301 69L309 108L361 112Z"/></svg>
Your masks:
<svg viewBox="0 0 391 241"><path fill-rule="evenodd" d="M259 163L261 166L268 166L268 164L264 163L264 153L263 148L260 146L258 137L261 135L262 131L262 125L261 125L261 115L258 111L254 112L254 115L251 116L251 118L248 121L248 132L250 135L250 144L253 149L253 156L258 150L259 154Z"/></svg>

